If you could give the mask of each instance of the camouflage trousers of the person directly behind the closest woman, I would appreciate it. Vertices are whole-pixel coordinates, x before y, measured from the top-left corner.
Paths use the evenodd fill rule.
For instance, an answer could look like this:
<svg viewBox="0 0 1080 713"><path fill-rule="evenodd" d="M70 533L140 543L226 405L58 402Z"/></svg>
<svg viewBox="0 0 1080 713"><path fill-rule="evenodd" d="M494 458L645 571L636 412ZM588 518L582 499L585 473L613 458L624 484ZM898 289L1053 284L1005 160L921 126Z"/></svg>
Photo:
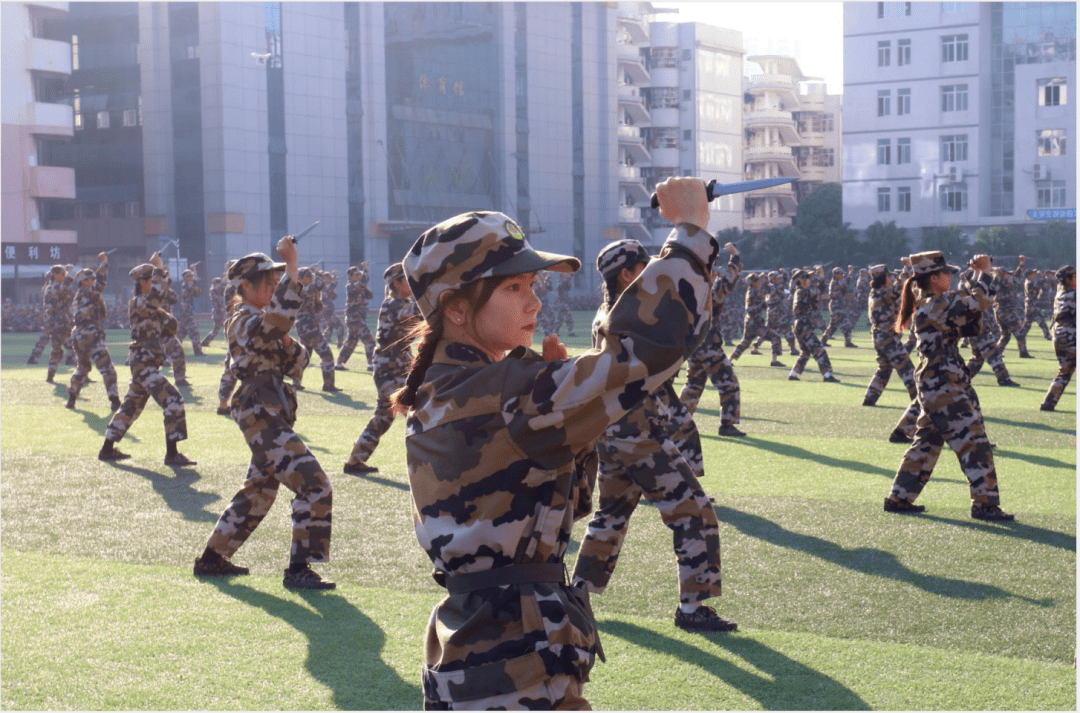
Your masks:
<svg viewBox="0 0 1080 713"><path fill-rule="evenodd" d="M600 593L615 573L630 516L645 498L660 511L672 530L678 562L679 602L688 604L720 595L720 534L708 496L689 465L669 439L596 442L599 456L599 509L593 514L570 578Z"/></svg>

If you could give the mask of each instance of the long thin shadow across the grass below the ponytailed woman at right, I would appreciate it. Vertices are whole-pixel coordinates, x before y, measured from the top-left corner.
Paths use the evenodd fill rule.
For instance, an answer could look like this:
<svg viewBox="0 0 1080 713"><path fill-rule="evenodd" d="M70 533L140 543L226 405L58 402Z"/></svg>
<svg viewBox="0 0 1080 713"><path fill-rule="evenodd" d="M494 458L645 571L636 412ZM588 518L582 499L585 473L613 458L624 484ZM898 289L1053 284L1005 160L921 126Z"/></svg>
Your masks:
<svg viewBox="0 0 1080 713"><path fill-rule="evenodd" d="M906 567L895 554L886 550L878 550L868 547L854 549L842 548L836 542L814 537L812 535L801 535L784 529L771 520L748 512L741 512L724 506L717 506L716 517L731 525L743 535L756 537L777 547L784 547L798 550L807 554L820 557L840 567L858 571L863 575L882 577L906 582L913 587L918 587L924 592L939 596L948 596L957 600L985 601L996 598L1016 597L1022 602L1027 602L1035 606L1053 606L1054 601L1050 598L1032 600L1018 594L1007 592L1000 587L984 584L982 582L967 581L963 579L950 579L948 577L935 577L923 575ZM887 515L887 517L913 517L915 515ZM920 515L924 516L924 515ZM951 521L946 521L951 522ZM1043 530L1048 532L1048 530Z"/></svg>

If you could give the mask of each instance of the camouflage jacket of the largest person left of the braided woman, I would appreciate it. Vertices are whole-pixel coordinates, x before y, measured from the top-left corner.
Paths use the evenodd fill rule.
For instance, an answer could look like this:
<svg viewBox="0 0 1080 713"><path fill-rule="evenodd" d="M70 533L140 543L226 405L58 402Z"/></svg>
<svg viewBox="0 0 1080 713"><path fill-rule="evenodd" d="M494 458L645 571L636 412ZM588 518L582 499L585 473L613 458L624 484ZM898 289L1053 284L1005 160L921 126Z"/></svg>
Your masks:
<svg viewBox="0 0 1080 713"><path fill-rule="evenodd" d="M308 351L299 340L285 335L293 328L300 309L300 283L283 275L270 298L258 309L237 305L225 325L229 338L229 368L240 379L232 408L261 409L267 415L296 420L296 390L284 377L299 378L308 365Z"/></svg>

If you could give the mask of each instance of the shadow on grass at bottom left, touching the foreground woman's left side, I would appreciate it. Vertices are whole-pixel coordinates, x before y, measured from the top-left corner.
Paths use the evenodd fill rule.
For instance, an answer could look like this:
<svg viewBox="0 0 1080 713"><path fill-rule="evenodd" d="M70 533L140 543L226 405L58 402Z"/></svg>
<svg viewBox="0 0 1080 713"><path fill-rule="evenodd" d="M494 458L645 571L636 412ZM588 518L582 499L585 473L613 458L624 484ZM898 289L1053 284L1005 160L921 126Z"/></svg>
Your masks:
<svg viewBox="0 0 1080 713"><path fill-rule="evenodd" d="M416 705L422 702L420 688L406 683L380 658L386 643L382 630L340 594L299 592L309 609L224 578L207 577L203 581L307 636L305 667L315 681L334 692L334 703L339 710L393 711L401 710L405 702Z"/></svg>

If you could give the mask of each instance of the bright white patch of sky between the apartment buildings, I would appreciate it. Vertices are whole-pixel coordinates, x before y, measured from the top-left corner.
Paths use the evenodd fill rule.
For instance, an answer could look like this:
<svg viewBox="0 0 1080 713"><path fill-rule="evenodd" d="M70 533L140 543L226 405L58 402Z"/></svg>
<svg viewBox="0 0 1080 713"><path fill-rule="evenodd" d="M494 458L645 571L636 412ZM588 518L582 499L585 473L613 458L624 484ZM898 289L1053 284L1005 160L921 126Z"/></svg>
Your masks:
<svg viewBox="0 0 1080 713"><path fill-rule="evenodd" d="M843 3L836 2L653 2L678 8L683 22L740 30L751 38L788 40L804 75L821 77L829 94L843 92ZM796 44L797 43L797 44ZM788 54L788 53L785 53ZM796 52L791 52L796 54Z"/></svg>

